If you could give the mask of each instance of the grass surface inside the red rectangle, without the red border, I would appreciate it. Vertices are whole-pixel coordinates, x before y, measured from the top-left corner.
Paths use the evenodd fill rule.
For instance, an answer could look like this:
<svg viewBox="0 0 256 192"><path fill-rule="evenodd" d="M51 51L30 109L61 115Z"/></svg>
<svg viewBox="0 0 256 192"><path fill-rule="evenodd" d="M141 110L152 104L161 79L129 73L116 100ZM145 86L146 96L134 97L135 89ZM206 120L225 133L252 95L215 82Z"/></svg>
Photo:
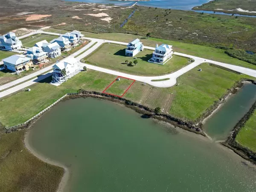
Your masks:
<svg viewBox="0 0 256 192"><path fill-rule="evenodd" d="M122 96L125 93L125 90L127 90L128 87L133 83L133 81L134 80L120 77L120 81L114 81L113 84L111 84L111 86L105 90L105 93Z"/></svg>

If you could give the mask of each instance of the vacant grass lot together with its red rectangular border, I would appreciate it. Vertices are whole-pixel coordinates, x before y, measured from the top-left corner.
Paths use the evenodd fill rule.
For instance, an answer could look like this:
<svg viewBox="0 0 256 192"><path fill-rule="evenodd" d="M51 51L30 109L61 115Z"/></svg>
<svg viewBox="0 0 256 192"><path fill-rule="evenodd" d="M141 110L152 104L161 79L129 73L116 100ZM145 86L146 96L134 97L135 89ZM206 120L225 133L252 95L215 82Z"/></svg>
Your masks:
<svg viewBox="0 0 256 192"><path fill-rule="evenodd" d="M120 79L119 81L117 79ZM102 92L112 96L122 97L134 84L134 79L118 76L108 87Z"/></svg>

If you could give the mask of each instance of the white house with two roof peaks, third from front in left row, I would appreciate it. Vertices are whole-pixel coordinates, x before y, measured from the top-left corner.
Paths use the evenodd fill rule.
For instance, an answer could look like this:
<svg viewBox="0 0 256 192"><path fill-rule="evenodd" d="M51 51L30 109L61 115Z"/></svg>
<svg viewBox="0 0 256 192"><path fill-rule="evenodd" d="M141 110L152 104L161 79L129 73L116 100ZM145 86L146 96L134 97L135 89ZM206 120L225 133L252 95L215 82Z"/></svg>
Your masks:
<svg viewBox="0 0 256 192"><path fill-rule="evenodd" d="M61 55L61 47L57 42L50 44L44 40L36 43L35 47L41 47L44 52L47 52L49 58L56 58Z"/></svg>

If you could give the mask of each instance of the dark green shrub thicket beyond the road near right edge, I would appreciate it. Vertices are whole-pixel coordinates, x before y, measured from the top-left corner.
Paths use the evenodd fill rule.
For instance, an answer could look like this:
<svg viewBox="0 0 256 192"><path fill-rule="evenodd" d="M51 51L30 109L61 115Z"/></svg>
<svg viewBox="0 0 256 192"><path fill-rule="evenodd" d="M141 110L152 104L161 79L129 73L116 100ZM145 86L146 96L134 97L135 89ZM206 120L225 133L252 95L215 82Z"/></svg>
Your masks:
<svg viewBox="0 0 256 192"><path fill-rule="evenodd" d="M241 49L227 49L225 51L230 57L238 58L250 64L256 65L256 54L249 54Z"/></svg>

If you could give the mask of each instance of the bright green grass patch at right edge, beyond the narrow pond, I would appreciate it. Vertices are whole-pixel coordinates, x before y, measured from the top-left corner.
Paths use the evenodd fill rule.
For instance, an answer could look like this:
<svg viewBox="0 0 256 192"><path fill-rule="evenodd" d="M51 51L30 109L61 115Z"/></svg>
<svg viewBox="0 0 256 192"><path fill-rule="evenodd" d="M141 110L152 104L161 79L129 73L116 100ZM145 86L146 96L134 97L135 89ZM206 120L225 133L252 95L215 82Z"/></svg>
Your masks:
<svg viewBox="0 0 256 192"><path fill-rule="evenodd" d="M246 122L239 134L236 136L236 141L241 145L250 148L256 152L256 111L253 116Z"/></svg>

